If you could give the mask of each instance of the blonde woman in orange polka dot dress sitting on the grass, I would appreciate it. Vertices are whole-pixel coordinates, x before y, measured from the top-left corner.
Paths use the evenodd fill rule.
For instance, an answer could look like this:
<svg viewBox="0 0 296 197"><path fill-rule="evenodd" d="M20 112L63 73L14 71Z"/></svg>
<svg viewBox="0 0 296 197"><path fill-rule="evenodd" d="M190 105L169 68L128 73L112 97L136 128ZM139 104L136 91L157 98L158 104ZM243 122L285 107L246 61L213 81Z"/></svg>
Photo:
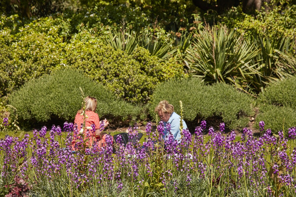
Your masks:
<svg viewBox="0 0 296 197"><path fill-rule="evenodd" d="M86 146L91 147L93 144L93 140L97 141L97 145L98 148L101 146L104 146L105 143L105 138L106 138L106 134L102 135L102 130L104 128L106 128L109 125L109 122L105 119L104 120L104 128L100 128L100 119L99 119L99 115L97 113L95 113L96 111L96 105L97 105L97 101L96 98L94 97L86 97L85 99L85 114L86 114L86 120L85 120L85 130L84 130L84 140L86 139L86 135L87 135L87 131L89 130L89 140L86 142ZM83 113L83 107L78 110L76 116L75 116L75 120L74 120L74 124L76 123L78 126L78 131L81 130L82 128L82 124L83 124L83 115L81 115ZM92 133L91 129L87 129L90 128L91 125L94 124L95 125L95 132ZM73 141L72 141L72 149L76 150L75 144L76 144L76 139L78 139L80 136L76 136L75 133L73 135Z"/></svg>

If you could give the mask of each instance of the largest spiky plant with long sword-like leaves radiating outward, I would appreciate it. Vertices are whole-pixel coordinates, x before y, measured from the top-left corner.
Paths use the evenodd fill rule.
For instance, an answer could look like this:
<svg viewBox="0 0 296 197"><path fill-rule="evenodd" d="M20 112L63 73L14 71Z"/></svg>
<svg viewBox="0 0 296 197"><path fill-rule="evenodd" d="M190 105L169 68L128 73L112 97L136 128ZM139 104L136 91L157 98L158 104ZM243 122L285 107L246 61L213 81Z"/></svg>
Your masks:
<svg viewBox="0 0 296 197"><path fill-rule="evenodd" d="M194 35L192 45L185 63L194 76L206 83L226 82L244 90L250 76L260 75L257 63L252 62L258 49L235 30L206 26Z"/></svg>

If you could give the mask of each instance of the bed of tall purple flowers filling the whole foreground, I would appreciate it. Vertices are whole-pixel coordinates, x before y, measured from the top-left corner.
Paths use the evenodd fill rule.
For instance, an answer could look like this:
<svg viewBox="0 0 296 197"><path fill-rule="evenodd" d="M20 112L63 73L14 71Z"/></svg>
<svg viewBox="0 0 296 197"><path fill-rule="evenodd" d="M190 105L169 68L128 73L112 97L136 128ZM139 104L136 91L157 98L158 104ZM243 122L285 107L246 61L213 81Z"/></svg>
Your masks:
<svg viewBox="0 0 296 197"><path fill-rule="evenodd" d="M4 121L7 121L5 119ZM264 125L261 122L261 125ZM112 136L106 146L72 152L73 133L80 128L65 123L34 131L30 138L5 136L0 140L0 193L6 196L296 196L295 127L271 135L263 131L254 138L244 128L240 141L234 131L228 135L206 122L194 135L182 131L179 143L169 135L163 140L163 122L156 130L146 125L143 144L123 146L118 137L112 154ZM167 125L170 129L170 125ZM264 129L262 127L262 129ZM49 131L48 131L49 130ZM129 134L136 136L137 125ZM62 139L62 131L67 137ZM50 137L46 138L46 132ZM93 129L89 130L89 133ZM63 143L60 143L62 141ZM78 145L77 145L78 144ZM79 146L79 143L76 143Z"/></svg>

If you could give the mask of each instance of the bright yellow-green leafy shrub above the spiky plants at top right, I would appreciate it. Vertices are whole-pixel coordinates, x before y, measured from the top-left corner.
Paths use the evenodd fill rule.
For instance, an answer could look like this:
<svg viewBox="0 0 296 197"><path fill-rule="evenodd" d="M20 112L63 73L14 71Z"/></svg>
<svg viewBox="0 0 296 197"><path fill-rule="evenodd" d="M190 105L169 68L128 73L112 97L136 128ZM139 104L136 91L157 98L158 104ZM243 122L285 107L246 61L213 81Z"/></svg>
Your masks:
<svg viewBox="0 0 296 197"><path fill-rule="evenodd" d="M288 1L286 1L288 2ZM245 34L268 35L271 39L278 39L284 35L295 38L296 5L289 3L272 3L272 9L261 10L256 15L243 13L240 9L232 7L227 14L218 19L229 28Z"/></svg>

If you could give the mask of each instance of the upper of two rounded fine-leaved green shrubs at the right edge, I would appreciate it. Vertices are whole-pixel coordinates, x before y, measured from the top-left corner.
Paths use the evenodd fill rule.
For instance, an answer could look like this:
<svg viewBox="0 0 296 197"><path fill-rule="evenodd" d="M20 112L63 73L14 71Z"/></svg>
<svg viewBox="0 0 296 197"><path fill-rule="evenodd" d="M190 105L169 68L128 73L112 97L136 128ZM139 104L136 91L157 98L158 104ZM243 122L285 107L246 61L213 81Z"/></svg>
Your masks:
<svg viewBox="0 0 296 197"><path fill-rule="evenodd" d="M284 79L283 81L270 84L264 92L260 94L259 99L264 103L285 106L296 110L296 76Z"/></svg>

